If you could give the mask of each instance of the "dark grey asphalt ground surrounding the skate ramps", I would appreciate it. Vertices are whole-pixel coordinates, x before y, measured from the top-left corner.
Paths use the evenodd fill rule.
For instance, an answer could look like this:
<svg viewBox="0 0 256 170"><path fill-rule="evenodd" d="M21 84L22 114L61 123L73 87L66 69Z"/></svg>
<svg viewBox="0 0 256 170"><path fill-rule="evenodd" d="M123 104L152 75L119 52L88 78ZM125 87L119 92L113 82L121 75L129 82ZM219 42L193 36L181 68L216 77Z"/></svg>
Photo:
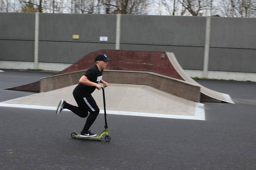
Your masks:
<svg viewBox="0 0 256 170"><path fill-rule="evenodd" d="M236 104L204 103L205 121L108 115L109 142L71 138L85 122L72 112L0 107L0 169L256 169L256 83L196 81ZM103 114L91 129L104 129Z"/></svg>

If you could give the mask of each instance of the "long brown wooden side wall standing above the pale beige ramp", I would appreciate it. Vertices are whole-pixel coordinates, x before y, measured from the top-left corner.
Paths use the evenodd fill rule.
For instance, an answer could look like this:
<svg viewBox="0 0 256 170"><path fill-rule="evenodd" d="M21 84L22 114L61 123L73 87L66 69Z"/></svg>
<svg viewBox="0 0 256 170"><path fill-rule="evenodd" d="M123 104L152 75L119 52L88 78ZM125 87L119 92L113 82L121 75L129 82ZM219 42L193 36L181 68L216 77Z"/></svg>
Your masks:
<svg viewBox="0 0 256 170"><path fill-rule="evenodd" d="M52 91L74 85L86 70L41 78L41 92ZM142 71L104 70L103 80L108 83L148 85L161 91L200 102L200 86L172 77Z"/></svg>

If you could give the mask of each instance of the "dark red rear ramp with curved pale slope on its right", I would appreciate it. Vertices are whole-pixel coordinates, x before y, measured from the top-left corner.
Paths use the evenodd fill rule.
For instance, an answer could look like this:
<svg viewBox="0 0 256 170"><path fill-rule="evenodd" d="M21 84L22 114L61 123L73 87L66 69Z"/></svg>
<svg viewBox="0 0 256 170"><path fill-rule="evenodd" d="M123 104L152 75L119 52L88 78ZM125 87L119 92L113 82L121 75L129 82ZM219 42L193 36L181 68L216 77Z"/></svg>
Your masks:
<svg viewBox="0 0 256 170"><path fill-rule="evenodd" d="M110 61L107 70L122 70L122 71L132 71L132 72L152 72L171 78L175 78L182 81L187 81L196 84L201 87L200 101L203 102L228 102L234 103L229 95L216 92L203 87L196 81L191 79L185 71L180 67L178 61L176 60L173 53L169 52L159 52L159 51L131 51L131 50L99 50L85 55L82 59L78 60L76 63L70 67L62 70L61 72L55 74L65 74L73 73L81 70L87 70L94 64L94 58L98 53L105 53ZM81 74L82 76L83 74ZM65 81L70 81L73 84L78 83L71 78L67 78ZM120 79L119 79L120 80ZM40 82L36 82L40 83ZM118 82L116 82L118 83ZM55 84L50 86L54 87ZM149 85L150 86L150 85ZM25 88L23 86L22 88ZM22 90L22 88L18 88ZM177 88L177 87L175 87ZM13 89L13 88L12 88ZM17 88L16 88L17 89ZM39 85L38 91L42 89ZM184 91L184 93L189 93L189 91Z"/></svg>

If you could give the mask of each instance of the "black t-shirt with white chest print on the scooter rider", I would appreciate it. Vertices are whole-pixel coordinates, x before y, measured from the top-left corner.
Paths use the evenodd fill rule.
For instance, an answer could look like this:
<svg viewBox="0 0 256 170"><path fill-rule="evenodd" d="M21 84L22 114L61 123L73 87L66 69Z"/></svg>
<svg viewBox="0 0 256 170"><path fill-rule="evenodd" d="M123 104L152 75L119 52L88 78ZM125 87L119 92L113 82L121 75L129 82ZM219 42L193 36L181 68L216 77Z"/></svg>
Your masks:
<svg viewBox="0 0 256 170"><path fill-rule="evenodd" d="M95 64L90 67L84 75L87 77L88 80L99 84L102 79L102 73L103 69L99 71L97 65ZM95 89L95 86L86 86L79 83L74 89L73 94L77 96L82 96L83 94L92 94Z"/></svg>

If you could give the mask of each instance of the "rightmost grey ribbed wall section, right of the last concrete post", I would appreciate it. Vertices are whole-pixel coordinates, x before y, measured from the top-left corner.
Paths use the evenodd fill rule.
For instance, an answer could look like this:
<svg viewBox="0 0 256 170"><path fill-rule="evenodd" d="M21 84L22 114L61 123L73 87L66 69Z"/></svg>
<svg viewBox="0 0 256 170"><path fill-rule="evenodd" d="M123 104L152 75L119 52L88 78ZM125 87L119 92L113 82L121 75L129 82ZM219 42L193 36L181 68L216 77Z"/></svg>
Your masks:
<svg viewBox="0 0 256 170"><path fill-rule="evenodd" d="M211 18L209 70L256 73L256 18Z"/></svg>

